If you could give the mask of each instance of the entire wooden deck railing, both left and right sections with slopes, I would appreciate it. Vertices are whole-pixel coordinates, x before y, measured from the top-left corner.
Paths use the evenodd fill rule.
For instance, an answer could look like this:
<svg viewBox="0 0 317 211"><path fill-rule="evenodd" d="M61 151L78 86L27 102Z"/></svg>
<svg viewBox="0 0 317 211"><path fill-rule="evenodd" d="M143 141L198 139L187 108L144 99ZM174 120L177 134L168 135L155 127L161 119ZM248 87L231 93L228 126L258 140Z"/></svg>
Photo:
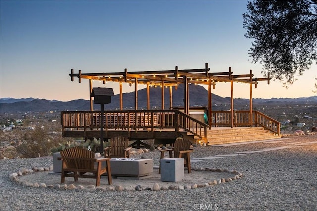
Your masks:
<svg viewBox="0 0 317 211"><path fill-rule="evenodd" d="M104 130L151 130L174 128L180 129L207 140L208 124L186 115L179 110L123 110L104 111ZM65 130L99 130L101 127L100 111L62 111L61 125ZM235 127L262 126L280 135L280 123L258 111L234 111ZM231 127L231 111L212 111L211 125Z"/></svg>

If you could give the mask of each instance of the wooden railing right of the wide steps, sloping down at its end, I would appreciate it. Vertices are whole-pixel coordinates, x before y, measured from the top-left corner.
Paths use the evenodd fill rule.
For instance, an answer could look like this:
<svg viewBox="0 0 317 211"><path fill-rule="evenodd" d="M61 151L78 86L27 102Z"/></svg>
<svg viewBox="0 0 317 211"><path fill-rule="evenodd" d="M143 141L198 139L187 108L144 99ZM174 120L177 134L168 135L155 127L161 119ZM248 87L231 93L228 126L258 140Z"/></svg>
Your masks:
<svg viewBox="0 0 317 211"><path fill-rule="evenodd" d="M218 127L231 127L231 111L212 111L211 125ZM262 126L271 132L280 135L281 124L277 120L266 116L259 111L253 111L250 117L250 111L234 111L234 127L258 127Z"/></svg>

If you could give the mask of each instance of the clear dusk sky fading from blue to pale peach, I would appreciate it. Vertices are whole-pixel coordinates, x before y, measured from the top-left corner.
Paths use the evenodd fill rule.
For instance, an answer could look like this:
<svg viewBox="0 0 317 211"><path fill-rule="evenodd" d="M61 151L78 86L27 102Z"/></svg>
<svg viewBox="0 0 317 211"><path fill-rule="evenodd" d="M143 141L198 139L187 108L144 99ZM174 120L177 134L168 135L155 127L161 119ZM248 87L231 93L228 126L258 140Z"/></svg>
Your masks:
<svg viewBox="0 0 317 211"><path fill-rule="evenodd" d="M247 1L0 1L0 97L70 101L89 99L89 80L75 73L204 68L262 78L251 63L252 40L244 37ZM317 65L288 89L260 81L253 98L314 96ZM118 83L94 82L113 88ZM144 88L138 86L140 89ZM230 83L212 93L230 96ZM123 92L134 88L123 86ZM249 85L234 83L235 98L249 98Z"/></svg>

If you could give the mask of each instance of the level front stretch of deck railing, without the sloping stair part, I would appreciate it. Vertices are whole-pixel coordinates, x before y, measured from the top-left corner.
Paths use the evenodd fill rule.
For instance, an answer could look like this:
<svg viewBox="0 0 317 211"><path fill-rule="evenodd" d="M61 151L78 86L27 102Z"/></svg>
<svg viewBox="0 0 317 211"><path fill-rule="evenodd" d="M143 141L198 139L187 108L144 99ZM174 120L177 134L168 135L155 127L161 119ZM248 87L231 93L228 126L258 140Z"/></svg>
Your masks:
<svg viewBox="0 0 317 211"><path fill-rule="evenodd" d="M104 111L103 126L107 129L136 130L138 128L173 128L173 110L115 110ZM101 126L100 111L62 111L62 129L98 130Z"/></svg>

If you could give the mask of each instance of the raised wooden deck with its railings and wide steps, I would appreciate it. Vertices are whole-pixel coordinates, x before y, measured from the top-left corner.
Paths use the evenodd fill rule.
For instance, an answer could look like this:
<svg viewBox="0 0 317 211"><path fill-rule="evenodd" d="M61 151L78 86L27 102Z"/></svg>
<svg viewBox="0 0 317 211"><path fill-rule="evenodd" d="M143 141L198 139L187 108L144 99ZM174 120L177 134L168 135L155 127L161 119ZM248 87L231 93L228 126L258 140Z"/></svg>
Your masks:
<svg viewBox="0 0 317 211"><path fill-rule="evenodd" d="M104 139L125 136L130 140L154 139L158 144L173 143L176 137L187 136L193 143L208 145L240 140L263 140L280 135L279 122L254 111L250 123L248 111L235 113L236 127L229 127L229 111L212 112L212 127L179 110L125 110L104 112ZM100 111L63 111L63 137L100 138ZM138 142L137 142L138 143Z"/></svg>

